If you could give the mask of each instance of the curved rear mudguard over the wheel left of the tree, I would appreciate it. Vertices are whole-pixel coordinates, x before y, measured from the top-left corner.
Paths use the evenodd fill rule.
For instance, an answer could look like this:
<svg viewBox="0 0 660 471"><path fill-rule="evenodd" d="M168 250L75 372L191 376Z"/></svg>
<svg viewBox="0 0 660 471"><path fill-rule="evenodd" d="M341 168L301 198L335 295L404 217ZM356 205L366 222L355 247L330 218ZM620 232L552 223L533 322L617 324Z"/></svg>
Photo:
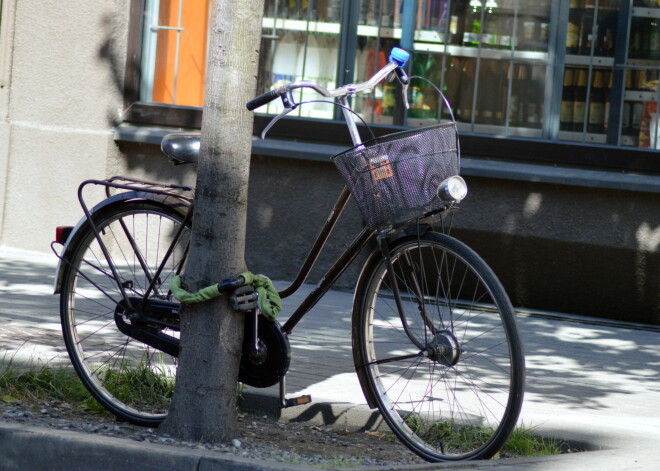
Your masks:
<svg viewBox="0 0 660 471"><path fill-rule="evenodd" d="M90 211L90 216L93 218L100 211L106 210L113 205L121 205L127 201L155 201L162 203L167 206L171 206L181 214L186 214L190 207L190 203L184 199L176 198L174 196L162 195L158 193L150 193L144 191L127 191L124 193L118 193L109 198L104 199L96 206L94 206ZM80 221L73 227L69 236L67 237L64 247L62 248L60 255L58 256L59 262L57 264L57 269L55 271L55 285L54 293L60 294L60 289L62 287L62 276L64 272L64 266L69 263L69 258L73 248L76 246L78 240L85 234L86 230L89 228L89 222L87 217L83 216Z"/></svg>

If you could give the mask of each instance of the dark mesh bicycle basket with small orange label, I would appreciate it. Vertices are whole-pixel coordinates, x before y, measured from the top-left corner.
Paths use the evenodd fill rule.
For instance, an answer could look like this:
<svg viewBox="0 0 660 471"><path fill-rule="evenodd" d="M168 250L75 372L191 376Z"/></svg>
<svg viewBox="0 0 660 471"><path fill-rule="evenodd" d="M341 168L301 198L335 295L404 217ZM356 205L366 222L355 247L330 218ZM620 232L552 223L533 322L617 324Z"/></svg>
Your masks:
<svg viewBox="0 0 660 471"><path fill-rule="evenodd" d="M396 227L446 209L440 183L458 175L453 122L372 139L332 157L369 229Z"/></svg>

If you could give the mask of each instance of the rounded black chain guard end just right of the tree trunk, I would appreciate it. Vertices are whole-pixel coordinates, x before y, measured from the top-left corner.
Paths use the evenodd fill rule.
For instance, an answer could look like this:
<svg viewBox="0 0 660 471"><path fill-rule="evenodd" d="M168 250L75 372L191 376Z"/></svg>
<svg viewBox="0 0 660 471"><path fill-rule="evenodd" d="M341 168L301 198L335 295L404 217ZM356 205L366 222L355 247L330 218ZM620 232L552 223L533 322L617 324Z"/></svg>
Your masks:
<svg viewBox="0 0 660 471"><path fill-rule="evenodd" d="M255 388L267 388L279 383L286 375L291 363L291 347L279 322L259 315L258 325L259 342L264 352L255 358L251 354L254 351L254 317L245 316L238 380Z"/></svg>

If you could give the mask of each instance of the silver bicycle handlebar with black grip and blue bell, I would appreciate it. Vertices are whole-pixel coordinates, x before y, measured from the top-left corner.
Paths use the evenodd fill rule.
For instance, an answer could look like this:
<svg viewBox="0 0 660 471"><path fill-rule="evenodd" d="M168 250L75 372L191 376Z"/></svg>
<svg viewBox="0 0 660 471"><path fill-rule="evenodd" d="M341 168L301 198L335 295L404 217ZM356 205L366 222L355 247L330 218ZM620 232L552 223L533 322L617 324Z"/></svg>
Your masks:
<svg viewBox="0 0 660 471"><path fill-rule="evenodd" d="M390 53L390 57L387 65L382 69L380 69L378 72L376 72L366 82L344 85L335 90L328 90L325 87L322 87L318 83L313 82L311 80L298 80L296 82L283 85L280 88L269 90L266 93L263 93L258 97L253 98L252 100L247 102L246 107L249 111L252 111L255 110L256 108L259 108L260 106L270 103L271 101L279 97L283 97L283 99L287 99L289 97L289 93L291 92L291 90L295 90L297 88L311 88L326 98L342 98L342 97L352 96L357 93L364 92L366 90L371 90L376 85L378 85L382 80L384 80L387 76L389 76L393 71L396 71L397 77L399 78L401 83L407 85L408 76L403 70L403 66L408 61L409 57L410 57L410 53L404 51L403 49L395 47L392 49L392 52Z"/></svg>

